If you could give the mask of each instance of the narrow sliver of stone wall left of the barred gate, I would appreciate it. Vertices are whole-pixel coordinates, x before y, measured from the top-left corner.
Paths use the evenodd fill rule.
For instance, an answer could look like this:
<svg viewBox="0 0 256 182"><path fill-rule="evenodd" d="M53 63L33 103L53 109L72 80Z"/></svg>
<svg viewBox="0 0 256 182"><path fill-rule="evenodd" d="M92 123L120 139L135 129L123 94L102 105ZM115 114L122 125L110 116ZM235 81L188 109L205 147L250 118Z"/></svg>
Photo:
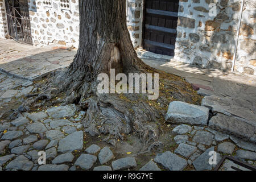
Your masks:
<svg viewBox="0 0 256 182"><path fill-rule="evenodd" d="M7 34L7 19L5 0L0 0L0 38L5 38Z"/></svg>

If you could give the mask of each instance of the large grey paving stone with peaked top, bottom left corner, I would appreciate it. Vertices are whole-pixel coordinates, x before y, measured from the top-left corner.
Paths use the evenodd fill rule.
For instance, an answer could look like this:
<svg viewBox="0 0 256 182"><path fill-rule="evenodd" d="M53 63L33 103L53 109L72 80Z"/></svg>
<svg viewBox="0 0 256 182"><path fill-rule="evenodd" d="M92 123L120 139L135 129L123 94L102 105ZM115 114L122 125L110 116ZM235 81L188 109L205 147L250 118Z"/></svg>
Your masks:
<svg viewBox="0 0 256 182"><path fill-rule="evenodd" d="M24 155L18 156L16 159L12 160L5 169L16 169L22 171L29 171L34 166L30 160L28 160Z"/></svg>

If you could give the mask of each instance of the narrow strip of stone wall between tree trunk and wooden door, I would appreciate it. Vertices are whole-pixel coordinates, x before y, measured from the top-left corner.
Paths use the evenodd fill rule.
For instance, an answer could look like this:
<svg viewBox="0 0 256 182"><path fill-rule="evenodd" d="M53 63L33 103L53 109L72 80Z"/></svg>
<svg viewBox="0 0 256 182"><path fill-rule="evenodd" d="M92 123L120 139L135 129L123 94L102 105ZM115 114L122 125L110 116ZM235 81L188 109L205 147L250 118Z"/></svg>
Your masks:
<svg viewBox="0 0 256 182"><path fill-rule="evenodd" d="M134 48L141 47L142 44L142 0L126 0L127 3L127 27L130 32L131 42Z"/></svg>

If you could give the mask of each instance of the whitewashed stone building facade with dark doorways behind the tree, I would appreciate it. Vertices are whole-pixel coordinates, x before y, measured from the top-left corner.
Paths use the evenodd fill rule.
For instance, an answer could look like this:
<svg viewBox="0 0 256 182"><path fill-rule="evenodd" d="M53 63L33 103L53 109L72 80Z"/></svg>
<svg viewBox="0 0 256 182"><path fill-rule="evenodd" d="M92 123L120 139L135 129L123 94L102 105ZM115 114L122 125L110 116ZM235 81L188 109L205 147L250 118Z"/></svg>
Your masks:
<svg viewBox="0 0 256 182"><path fill-rule="evenodd" d="M38 46L78 47L78 1L0 0L0 38L17 26L8 16L18 2L15 16L26 31L13 36ZM244 1L237 42L241 6L242 0L127 0L127 27L135 48L222 70L231 69L236 53L235 71L256 75L256 1Z"/></svg>

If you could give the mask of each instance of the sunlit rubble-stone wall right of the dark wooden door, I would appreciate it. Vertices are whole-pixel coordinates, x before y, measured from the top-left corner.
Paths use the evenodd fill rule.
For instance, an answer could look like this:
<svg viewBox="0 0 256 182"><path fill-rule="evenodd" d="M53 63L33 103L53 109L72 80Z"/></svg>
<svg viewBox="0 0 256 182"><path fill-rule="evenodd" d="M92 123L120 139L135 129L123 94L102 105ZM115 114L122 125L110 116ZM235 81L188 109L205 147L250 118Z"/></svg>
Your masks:
<svg viewBox="0 0 256 182"><path fill-rule="evenodd" d="M210 3L216 14L209 14ZM256 75L255 1L243 8L235 69ZM174 59L203 67L230 69L240 17L241 0L180 0Z"/></svg>

